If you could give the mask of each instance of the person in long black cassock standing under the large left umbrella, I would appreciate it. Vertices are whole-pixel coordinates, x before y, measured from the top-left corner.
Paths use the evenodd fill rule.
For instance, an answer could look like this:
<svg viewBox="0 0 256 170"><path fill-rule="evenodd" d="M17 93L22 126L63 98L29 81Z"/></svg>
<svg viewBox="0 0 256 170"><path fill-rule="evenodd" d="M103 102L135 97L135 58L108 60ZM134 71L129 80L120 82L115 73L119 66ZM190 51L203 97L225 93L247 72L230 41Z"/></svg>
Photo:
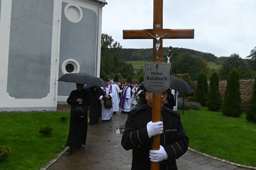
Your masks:
<svg viewBox="0 0 256 170"><path fill-rule="evenodd" d="M84 89L84 84L76 83L76 90L71 91L67 103L71 105L67 152L74 148L81 149L86 143L88 128L88 106L94 103L90 92Z"/></svg>

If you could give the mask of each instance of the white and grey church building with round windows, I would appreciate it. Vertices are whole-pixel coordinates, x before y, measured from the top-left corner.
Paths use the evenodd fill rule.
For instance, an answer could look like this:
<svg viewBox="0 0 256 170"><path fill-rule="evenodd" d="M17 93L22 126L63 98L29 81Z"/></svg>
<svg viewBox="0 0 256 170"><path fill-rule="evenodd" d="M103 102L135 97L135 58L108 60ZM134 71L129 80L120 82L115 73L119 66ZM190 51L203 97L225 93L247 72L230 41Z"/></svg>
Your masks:
<svg viewBox="0 0 256 170"><path fill-rule="evenodd" d="M0 111L56 111L74 83L99 77L105 0L0 0Z"/></svg>

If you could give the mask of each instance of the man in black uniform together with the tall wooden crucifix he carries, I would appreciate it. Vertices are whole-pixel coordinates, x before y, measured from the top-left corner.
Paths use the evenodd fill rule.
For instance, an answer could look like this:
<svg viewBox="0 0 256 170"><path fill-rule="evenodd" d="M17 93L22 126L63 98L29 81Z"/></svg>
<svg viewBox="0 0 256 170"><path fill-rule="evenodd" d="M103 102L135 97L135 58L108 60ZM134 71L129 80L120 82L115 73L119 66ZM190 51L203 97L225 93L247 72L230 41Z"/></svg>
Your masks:
<svg viewBox="0 0 256 170"><path fill-rule="evenodd" d="M123 30L123 39L153 39L153 62L162 62L162 39L194 38L194 29L163 29L162 8L163 0L154 0L153 29ZM163 106L166 91L153 92L146 92L147 104L128 113L122 146L132 149L131 169L176 170L175 159L187 151L189 139L180 114Z"/></svg>

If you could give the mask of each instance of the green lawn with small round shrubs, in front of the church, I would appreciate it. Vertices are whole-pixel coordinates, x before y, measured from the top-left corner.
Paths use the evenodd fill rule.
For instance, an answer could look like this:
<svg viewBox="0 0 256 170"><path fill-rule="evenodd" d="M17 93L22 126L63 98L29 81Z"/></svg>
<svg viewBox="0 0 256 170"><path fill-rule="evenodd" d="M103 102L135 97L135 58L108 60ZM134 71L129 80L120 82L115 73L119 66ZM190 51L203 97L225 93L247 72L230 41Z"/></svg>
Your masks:
<svg viewBox="0 0 256 170"><path fill-rule="evenodd" d="M40 169L57 153L65 149L69 119L61 123L61 116L70 113L0 113L0 146L7 145L11 154L3 162L0 169ZM52 136L39 134L40 127L51 125Z"/></svg>

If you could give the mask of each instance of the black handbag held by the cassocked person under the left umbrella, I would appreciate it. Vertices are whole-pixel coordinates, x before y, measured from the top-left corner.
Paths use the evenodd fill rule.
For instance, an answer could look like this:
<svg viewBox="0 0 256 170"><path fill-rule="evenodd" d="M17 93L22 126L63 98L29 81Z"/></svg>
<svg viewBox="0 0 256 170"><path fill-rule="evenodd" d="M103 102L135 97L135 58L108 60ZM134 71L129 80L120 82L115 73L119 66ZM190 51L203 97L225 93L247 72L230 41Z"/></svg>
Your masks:
<svg viewBox="0 0 256 170"><path fill-rule="evenodd" d="M70 118L87 119L88 106L71 105Z"/></svg>

